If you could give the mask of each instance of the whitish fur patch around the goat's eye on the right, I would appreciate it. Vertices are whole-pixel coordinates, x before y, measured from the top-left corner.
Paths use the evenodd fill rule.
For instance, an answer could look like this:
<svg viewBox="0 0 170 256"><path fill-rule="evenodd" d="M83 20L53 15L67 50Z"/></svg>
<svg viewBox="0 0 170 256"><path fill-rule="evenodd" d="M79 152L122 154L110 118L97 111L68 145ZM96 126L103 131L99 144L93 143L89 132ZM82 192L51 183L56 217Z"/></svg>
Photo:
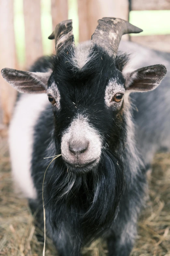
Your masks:
<svg viewBox="0 0 170 256"><path fill-rule="evenodd" d="M107 107L120 108L122 100L120 102L111 101L113 96L117 93L125 93L124 85L118 84L117 81L112 78L110 79L105 90L105 103Z"/></svg>

